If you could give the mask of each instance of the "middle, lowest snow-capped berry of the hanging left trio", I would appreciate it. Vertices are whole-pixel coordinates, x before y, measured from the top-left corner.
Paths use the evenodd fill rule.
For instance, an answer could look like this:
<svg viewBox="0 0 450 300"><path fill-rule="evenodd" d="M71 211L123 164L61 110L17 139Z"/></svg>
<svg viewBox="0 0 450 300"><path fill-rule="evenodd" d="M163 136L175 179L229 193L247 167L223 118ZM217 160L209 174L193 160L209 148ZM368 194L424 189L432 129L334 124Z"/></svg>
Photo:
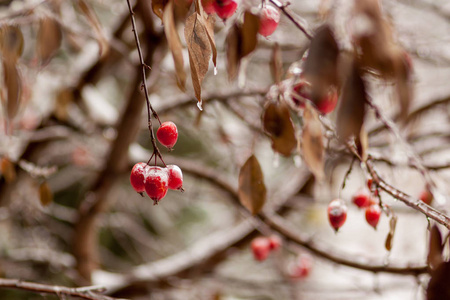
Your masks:
<svg viewBox="0 0 450 300"><path fill-rule="evenodd" d="M160 167L149 167L144 181L145 192L154 201L154 204L164 198L167 193L169 175L167 170Z"/></svg>

